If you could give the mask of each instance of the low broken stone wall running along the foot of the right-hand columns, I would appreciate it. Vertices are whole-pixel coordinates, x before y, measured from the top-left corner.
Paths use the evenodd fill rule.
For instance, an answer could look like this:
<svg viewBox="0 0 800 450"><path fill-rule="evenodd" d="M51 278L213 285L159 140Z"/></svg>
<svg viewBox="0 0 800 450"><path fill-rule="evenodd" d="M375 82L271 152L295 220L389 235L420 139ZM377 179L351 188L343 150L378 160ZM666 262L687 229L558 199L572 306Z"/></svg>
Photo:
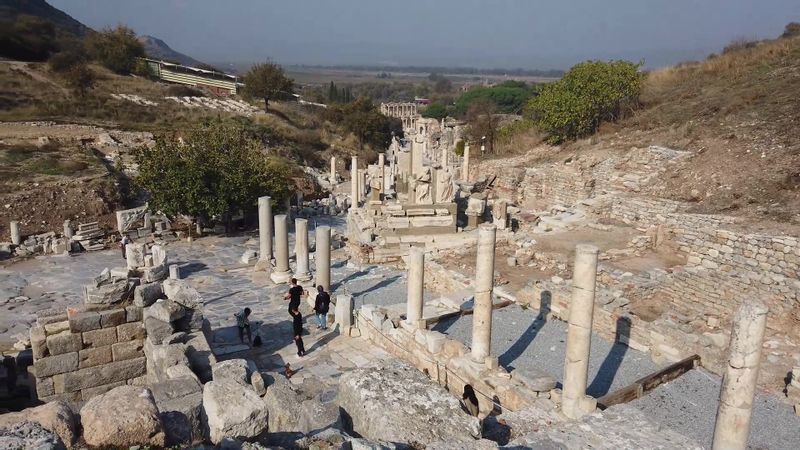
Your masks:
<svg viewBox="0 0 800 450"><path fill-rule="evenodd" d="M355 314L355 325L362 337L412 364L454 395L461 396L464 385L472 385L483 394L479 394L479 406L484 416L495 408L489 399L518 411L535 402L552 409L560 398L552 377L519 370L509 374L496 362L494 367L476 363L463 343L405 321L394 323L375 305L362 306Z"/></svg>

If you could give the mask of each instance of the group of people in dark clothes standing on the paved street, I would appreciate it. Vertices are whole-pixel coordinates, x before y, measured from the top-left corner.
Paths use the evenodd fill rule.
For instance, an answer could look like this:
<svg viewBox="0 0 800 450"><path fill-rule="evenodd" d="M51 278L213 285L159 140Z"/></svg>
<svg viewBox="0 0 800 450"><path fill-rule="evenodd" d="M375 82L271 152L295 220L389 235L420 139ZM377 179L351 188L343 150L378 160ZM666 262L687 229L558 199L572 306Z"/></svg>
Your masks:
<svg viewBox="0 0 800 450"><path fill-rule="evenodd" d="M289 292L284 295L284 300L289 300L289 315L292 317L292 331L294 336L294 343L297 346L297 356L305 356L306 348L303 343L303 314L300 313L300 301L304 295L308 295L308 291L303 289L302 286L297 284L297 279L292 278L292 286ZM317 297L314 300L314 315L317 319L317 328L322 330L328 329L328 311L330 310L331 296L325 292L325 288L320 285L317 286ZM244 336L247 335L247 341L252 345L252 331L250 329L250 308L235 314L236 325L239 328L239 339L245 342Z"/></svg>

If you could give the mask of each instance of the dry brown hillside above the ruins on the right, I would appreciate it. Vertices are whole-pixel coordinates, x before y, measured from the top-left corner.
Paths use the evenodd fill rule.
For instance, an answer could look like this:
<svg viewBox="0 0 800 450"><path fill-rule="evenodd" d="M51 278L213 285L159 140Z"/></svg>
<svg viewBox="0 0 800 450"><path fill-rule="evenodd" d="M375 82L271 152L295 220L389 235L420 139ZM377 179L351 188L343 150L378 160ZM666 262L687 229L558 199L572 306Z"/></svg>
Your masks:
<svg viewBox="0 0 800 450"><path fill-rule="evenodd" d="M705 61L649 73L631 117L537 151L537 159L578 156L598 164L653 145L688 151L650 194L693 202L695 212L800 224L798 98L800 37L739 43Z"/></svg>

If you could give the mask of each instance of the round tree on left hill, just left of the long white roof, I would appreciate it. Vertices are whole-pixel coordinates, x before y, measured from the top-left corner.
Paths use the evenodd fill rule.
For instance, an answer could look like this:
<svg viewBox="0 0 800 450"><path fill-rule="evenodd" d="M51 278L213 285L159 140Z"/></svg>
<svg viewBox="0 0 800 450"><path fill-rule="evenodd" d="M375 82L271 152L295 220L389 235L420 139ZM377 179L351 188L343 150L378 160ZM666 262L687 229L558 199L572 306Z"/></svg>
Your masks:
<svg viewBox="0 0 800 450"><path fill-rule="evenodd" d="M89 56L109 70L127 74L134 72L137 58L145 56L144 46L132 29L119 25L92 33L86 38Z"/></svg>

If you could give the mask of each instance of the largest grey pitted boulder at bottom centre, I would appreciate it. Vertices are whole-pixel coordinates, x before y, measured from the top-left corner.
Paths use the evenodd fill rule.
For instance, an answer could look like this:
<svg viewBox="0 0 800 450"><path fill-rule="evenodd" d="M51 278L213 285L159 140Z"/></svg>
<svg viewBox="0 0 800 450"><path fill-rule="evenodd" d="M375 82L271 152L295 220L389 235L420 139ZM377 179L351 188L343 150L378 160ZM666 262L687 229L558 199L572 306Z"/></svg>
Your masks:
<svg viewBox="0 0 800 450"><path fill-rule="evenodd" d="M477 418L465 413L444 388L404 363L343 374L338 401L349 416L347 425L368 439L427 445L471 442L480 436ZM393 406L400 404L403 408Z"/></svg>

